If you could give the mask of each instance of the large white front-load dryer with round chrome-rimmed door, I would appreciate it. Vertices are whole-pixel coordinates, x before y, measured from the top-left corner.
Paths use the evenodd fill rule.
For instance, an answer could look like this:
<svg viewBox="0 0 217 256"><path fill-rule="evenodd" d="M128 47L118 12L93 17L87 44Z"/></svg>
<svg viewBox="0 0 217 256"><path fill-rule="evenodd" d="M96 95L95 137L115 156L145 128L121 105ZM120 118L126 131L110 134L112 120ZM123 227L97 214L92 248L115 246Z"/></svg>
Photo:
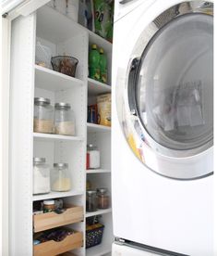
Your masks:
<svg viewBox="0 0 217 256"><path fill-rule="evenodd" d="M115 239L163 255L214 255L213 4L119 2L115 12L128 11L114 31Z"/></svg>

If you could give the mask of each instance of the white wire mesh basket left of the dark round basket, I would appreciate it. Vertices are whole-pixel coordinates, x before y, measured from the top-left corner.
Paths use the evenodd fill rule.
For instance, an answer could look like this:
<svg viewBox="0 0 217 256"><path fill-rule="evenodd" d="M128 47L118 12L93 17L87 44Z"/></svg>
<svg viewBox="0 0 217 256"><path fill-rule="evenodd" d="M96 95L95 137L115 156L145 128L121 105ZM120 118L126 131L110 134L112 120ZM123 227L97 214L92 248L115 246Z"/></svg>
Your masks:
<svg viewBox="0 0 217 256"><path fill-rule="evenodd" d="M36 43L35 63L44 68L51 68L52 51L49 47Z"/></svg>

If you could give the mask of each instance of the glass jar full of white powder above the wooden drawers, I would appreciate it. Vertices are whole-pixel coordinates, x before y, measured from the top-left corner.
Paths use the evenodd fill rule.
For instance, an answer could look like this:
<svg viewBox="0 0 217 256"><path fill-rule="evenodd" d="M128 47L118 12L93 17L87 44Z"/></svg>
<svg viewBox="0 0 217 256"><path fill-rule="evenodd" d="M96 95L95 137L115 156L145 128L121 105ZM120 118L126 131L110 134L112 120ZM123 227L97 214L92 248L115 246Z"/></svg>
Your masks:
<svg viewBox="0 0 217 256"><path fill-rule="evenodd" d="M47 194L50 188L50 168L44 158L33 158L33 194Z"/></svg>

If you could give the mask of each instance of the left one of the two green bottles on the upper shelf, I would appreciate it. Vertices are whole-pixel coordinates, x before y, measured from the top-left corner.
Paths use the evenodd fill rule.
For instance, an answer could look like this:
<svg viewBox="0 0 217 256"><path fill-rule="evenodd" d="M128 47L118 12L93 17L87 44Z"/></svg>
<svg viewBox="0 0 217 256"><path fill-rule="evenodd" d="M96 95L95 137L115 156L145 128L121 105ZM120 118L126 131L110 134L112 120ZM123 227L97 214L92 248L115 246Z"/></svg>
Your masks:
<svg viewBox="0 0 217 256"><path fill-rule="evenodd" d="M100 81L100 53L97 45L92 45L89 54L89 72L90 78Z"/></svg>

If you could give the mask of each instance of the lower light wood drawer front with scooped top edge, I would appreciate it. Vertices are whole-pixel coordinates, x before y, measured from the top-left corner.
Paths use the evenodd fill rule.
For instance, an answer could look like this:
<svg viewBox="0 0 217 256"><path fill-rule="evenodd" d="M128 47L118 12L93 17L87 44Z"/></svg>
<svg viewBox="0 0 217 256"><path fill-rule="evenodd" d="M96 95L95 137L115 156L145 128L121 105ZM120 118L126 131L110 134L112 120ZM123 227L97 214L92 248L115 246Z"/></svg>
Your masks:
<svg viewBox="0 0 217 256"><path fill-rule="evenodd" d="M38 245L34 245L34 256L54 256L68 250L75 250L83 245L82 232L75 232L67 236L63 241L55 242L50 240Z"/></svg>

